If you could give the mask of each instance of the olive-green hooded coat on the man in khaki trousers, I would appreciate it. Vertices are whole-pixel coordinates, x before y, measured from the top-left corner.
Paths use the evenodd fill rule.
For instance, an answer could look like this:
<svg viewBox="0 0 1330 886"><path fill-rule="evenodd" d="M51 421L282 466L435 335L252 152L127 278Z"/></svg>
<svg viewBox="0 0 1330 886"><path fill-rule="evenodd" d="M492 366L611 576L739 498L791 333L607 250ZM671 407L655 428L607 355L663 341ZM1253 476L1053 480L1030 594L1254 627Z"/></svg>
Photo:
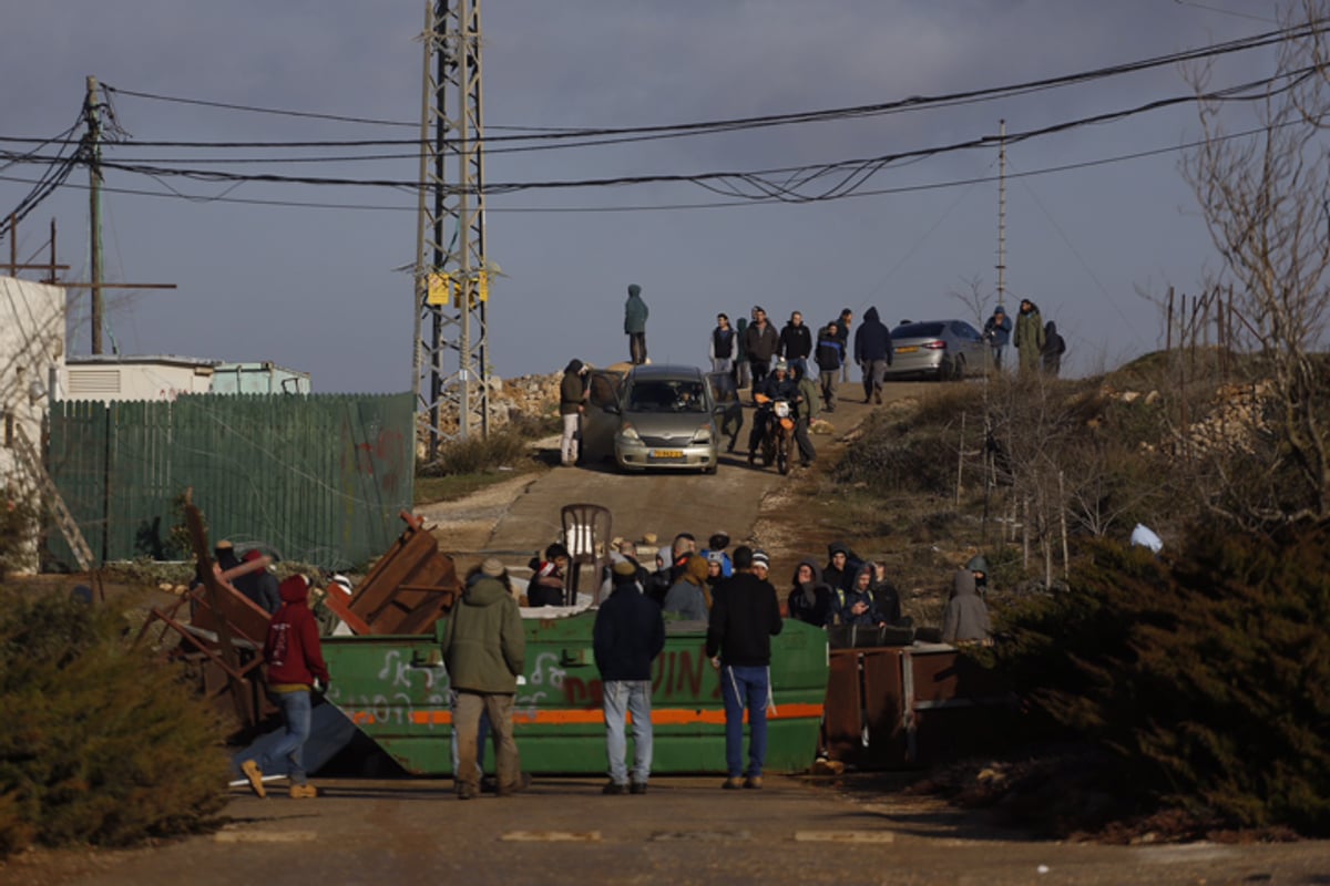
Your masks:
<svg viewBox="0 0 1330 886"><path fill-rule="evenodd" d="M496 695L517 691L527 635L517 600L499 579L477 573L467 580L440 646L454 689Z"/></svg>

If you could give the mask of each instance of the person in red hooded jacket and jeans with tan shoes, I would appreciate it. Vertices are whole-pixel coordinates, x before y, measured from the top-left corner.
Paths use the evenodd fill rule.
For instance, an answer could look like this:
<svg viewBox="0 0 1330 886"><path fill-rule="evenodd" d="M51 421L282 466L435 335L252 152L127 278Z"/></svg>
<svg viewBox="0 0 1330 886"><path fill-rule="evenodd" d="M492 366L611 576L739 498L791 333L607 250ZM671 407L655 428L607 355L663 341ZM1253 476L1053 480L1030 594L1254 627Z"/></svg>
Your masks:
<svg viewBox="0 0 1330 886"><path fill-rule="evenodd" d="M273 760L286 757L286 772L291 782L290 794L295 800L318 797L318 789L309 784L305 774L302 751L310 737L310 693L317 684L327 691L330 683L329 665L323 662L319 648L319 627L310 611L310 579L293 575L279 586L282 608L267 627L267 640L263 643L263 662L267 664L267 688L282 708L282 721L286 735L262 754L262 762L249 758L241 762L241 772L250 788L259 797L267 796L263 788L263 769Z"/></svg>

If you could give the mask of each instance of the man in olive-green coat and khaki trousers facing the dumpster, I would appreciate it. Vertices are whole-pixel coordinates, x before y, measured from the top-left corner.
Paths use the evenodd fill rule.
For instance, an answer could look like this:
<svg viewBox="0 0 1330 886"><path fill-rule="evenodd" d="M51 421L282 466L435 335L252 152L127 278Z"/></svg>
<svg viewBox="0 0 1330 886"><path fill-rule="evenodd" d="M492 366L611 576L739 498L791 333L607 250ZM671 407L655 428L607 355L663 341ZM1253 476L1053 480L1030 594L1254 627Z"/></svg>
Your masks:
<svg viewBox="0 0 1330 886"><path fill-rule="evenodd" d="M443 634L443 664L458 693L452 720L458 735L458 769L452 774L458 800L471 800L480 790L476 754L481 711L493 728L499 796L525 786L512 737L512 708L517 676L525 667L527 636L507 578L499 561L489 558L481 563L467 578Z"/></svg>

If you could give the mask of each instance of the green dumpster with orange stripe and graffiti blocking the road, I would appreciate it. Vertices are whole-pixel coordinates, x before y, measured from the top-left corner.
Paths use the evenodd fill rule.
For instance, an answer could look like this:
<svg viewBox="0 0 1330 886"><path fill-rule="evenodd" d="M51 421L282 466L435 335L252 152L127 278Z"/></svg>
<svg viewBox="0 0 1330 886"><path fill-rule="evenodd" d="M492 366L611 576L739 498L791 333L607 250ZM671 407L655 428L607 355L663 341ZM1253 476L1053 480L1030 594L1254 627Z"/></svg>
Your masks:
<svg viewBox="0 0 1330 886"><path fill-rule="evenodd" d="M601 681L592 654L595 611L525 619L527 672L513 716L523 769L606 770ZM329 701L416 774L450 774L448 675L435 636L329 638ZM656 773L724 773L725 708L720 675L706 659L706 627L669 623L652 671ZM771 772L807 769L818 747L827 687L826 632L798 620L771 638L774 707L767 711ZM487 756L492 764L493 754Z"/></svg>

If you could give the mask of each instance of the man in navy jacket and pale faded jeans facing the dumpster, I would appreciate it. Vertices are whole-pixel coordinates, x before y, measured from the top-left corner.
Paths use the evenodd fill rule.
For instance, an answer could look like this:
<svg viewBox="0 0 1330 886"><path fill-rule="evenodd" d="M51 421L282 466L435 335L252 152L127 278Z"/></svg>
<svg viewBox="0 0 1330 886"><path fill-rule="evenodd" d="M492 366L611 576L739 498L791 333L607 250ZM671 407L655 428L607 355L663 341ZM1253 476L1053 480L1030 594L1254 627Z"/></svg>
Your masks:
<svg viewBox="0 0 1330 886"><path fill-rule="evenodd" d="M604 684L606 794L644 794L652 774L652 660L665 648L661 608L637 586L637 563L620 557L609 599L596 612L592 646ZM633 715L633 777L628 778L624 720Z"/></svg>

